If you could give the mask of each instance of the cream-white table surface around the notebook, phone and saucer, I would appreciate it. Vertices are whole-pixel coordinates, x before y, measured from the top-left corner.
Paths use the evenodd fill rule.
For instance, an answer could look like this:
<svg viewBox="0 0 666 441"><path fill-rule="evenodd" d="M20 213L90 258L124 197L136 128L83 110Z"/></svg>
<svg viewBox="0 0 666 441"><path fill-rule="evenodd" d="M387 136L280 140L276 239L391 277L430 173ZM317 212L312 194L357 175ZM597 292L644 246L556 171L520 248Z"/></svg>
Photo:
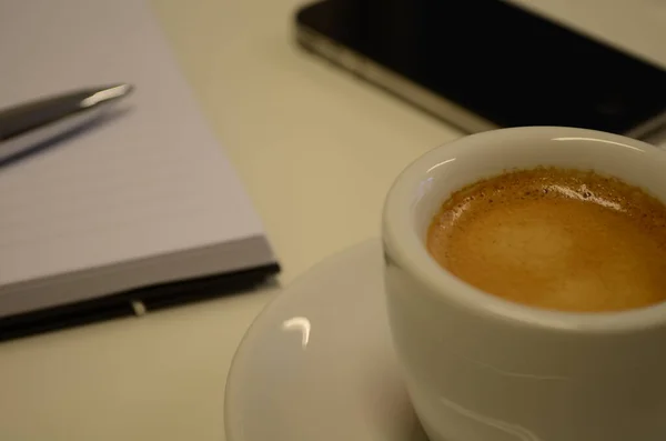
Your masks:
<svg viewBox="0 0 666 441"><path fill-rule="evenodd" d="M264 220L284 268L282 285L327 254L376 237L394 176L461 136L296 49L291 18L299 3L152 2ZM602 4L615 13L602 18ZM660 4L539 0L535 7L666 64L664 39L653 28L666 17ZM642 13L644 7L652 12ZM233 352L276 292L0 344L0 439L224 440Z"/></svg>

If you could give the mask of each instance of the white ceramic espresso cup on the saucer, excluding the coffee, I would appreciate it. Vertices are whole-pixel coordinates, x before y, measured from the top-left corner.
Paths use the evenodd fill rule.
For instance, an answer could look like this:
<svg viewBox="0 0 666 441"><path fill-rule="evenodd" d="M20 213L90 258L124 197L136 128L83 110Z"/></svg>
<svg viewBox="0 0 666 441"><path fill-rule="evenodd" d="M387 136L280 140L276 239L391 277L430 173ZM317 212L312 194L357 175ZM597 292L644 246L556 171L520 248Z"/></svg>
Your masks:
<svg viewBox="0 0 666 441"><path fill-rule="evenodd" d="M427 228L453 191L536 166L593 169L666 201L666 152L582 129L484 132L408 166L387 196L383 242L389 320L416 413L431 441L665 441L666 304L529 308L427 253Z"/></svg>

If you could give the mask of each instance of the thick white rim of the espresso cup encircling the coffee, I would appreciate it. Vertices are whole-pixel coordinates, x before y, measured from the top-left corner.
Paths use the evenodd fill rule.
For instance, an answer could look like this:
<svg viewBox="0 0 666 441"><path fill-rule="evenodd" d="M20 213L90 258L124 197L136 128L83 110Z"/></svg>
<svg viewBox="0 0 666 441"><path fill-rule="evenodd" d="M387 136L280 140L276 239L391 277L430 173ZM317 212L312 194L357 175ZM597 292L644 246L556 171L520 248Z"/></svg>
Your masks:
<svg viewBox="0 0 666 441"><path fill-rule="evenodd" d="M658 161L666 170L666 152L643 141L595 130L564 127L523 127L491 130L442 144L410 163L389 190L382 216L384 251L401 268L425 283L441 300L497 320L555 331L584 333L623 333L666 325L666 302L645 308L609 312L569 312L539 309L516 303L480 290L446 271L430 255L417 237L411 210L420 183L438 164L451 162L462 150L524 138L543 141L577 140L604 142L645 153L645 161ZM445 152L444 152L445 151ZM444 161L442 161L442 159ZM666 172L665 172L666 173ZM664 174L666 182L666 174ZM666 201L663 200L664 203ZM413 234L401 233L412 231Z"/></svg>

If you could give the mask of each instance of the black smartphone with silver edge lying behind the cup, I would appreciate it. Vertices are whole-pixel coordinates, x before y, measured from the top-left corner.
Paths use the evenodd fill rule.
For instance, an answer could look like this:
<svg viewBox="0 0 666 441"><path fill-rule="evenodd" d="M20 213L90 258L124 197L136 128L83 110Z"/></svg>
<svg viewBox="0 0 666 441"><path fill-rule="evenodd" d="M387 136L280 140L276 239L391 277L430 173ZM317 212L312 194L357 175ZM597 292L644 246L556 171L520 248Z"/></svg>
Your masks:
<svg viewBox="0 0 666 441"><path fill-rule="evenodd" d="M666 124L666 71L505 1L325 0L295 26L303 48L467 132Z"/></svg>

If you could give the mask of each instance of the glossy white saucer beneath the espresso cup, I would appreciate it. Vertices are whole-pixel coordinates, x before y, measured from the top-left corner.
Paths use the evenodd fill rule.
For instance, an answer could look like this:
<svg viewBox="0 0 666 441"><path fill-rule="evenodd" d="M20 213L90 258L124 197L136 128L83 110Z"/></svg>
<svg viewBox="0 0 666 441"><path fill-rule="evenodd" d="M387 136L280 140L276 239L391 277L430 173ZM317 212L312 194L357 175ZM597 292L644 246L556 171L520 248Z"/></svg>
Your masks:
<svg viewBox="0 0 666 441"><path fill-rule="evenodd" d="M379 240L312 268L243 339L228 441L422 441L385 318Z"/></svg>

